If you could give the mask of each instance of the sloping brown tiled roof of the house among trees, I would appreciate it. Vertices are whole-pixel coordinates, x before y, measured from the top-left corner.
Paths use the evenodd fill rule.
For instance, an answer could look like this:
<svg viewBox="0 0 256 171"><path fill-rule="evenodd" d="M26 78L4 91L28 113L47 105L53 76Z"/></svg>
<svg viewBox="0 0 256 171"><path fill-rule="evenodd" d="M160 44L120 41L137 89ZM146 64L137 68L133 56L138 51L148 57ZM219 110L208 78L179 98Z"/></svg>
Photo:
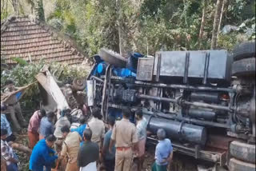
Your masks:
<svg viewBox="0 0 256 171"><path fill-rule="evenodd" d="M1 26L1 58L9 65L16 63L11 58L80 64L86 54L78 49L66 35L27 16L10 17Z"/></svg>

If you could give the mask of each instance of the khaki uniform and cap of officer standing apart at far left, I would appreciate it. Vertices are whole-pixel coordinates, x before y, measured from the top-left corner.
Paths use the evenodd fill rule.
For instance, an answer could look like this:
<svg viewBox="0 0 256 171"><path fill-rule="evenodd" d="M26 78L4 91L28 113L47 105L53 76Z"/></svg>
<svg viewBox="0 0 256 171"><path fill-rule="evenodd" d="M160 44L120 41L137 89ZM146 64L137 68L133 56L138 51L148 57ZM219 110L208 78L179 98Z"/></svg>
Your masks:
<svg viewBox="0 0 256 171"><path fill-rule="evenodd" d="M4 90L5 93L10 93L11 90L6 88ZM22 109L21 106L19 105L18 99L15 95L11 96L9 100L6 101L7 109L6 113L10 113L10 118L12 125L14 127L15 131L21 130L21 126L19 123L23 125L26 125L26 121L22 115Z"/></svg>

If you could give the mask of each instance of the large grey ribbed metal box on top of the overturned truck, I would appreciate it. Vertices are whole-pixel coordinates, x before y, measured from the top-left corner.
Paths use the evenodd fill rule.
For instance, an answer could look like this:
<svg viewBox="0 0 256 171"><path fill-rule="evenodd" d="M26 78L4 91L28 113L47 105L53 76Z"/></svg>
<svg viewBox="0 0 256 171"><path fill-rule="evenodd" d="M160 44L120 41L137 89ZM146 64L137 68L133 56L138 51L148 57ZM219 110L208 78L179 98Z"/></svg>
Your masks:
<svg viewBox="0 0 256 171"><path fill-rule="evenodd" d="M159 51L154 58L154 76L179 77L186 83L190 78L230 80L232 58L226 50Z"/></svg>

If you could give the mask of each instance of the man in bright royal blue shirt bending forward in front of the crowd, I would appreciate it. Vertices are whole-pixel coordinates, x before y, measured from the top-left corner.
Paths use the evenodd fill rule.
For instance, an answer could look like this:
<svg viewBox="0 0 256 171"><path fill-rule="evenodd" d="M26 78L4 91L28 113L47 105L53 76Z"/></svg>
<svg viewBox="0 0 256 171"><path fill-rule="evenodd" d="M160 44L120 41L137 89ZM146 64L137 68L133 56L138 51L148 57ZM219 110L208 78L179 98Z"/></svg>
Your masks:
<svg viewBox="0 0 256 171"><path fill-rule="evenodd" d="M56 141L56 137L53 134L47 136L46 139L38 141L30 156L30 170L43 171L43 166L46 166L46 171L51 170L51 165L58 158L57 155L54 155L54 149L51 148L54 145L54 141Z"/></svg>

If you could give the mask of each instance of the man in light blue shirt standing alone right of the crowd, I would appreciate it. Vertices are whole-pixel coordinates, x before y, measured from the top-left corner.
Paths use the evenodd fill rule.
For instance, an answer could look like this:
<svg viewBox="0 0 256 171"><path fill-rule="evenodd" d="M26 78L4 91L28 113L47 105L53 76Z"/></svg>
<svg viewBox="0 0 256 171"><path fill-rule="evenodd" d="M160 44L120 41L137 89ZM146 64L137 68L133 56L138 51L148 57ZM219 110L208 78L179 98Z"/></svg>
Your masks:
<svg viewBox="0 0 256 171"><path fill-rule="evenodd" d="M152 171L167 171L167 165L173 158L173 147L170 139L166 138L166 131L158 129L158 145L155 148L155 162Z"/></svg>

